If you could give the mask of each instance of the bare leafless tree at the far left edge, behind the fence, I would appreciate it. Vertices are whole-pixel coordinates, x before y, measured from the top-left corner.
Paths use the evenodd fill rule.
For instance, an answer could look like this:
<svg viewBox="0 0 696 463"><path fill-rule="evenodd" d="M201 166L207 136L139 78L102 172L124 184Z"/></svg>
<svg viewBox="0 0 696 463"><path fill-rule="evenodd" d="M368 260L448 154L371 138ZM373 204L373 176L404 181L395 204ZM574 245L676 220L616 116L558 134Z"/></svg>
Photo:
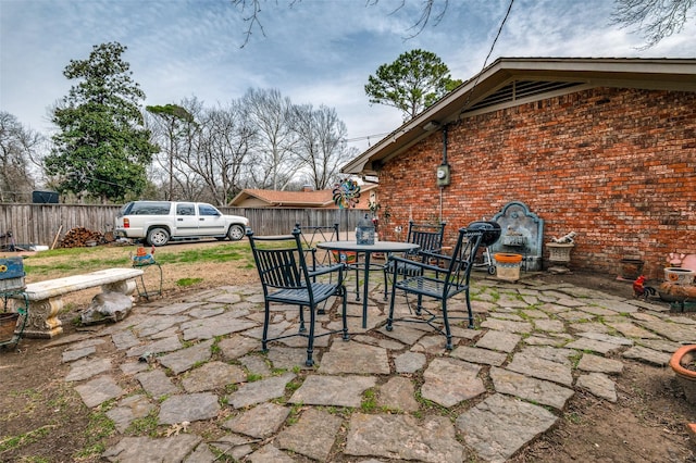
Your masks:
<svg viewBox="0 0 696 463"><path fill-rule="evenodd" d="M26 201L35 187L32 163L38 159L42 136L0 111L0 201ZM2 232L2 230L0 230Z"/></svg>

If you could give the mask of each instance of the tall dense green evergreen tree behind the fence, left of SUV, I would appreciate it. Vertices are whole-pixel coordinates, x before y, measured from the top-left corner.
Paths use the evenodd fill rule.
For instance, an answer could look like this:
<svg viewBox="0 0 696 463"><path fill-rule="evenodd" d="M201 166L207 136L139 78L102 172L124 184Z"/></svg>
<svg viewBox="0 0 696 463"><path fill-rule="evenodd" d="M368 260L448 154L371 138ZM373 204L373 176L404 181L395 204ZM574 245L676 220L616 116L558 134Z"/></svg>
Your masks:
<svg viewBox="0 0 696 463"><path fill-rule="evenodd" d="M150 143L140 102L145 93L130 78L119 42L92 47L87 60L71 60L63 75L77 80L53 111L60 128L46 159L60 192L101 202L137 198L158 147Z"/></svg>

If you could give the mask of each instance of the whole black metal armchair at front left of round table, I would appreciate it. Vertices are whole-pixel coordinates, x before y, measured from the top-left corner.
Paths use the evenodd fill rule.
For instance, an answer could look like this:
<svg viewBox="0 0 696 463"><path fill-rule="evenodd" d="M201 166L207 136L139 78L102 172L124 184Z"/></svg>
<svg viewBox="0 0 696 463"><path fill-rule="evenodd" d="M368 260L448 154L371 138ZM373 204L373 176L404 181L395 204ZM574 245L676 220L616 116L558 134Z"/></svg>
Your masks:
<svg viewBox="0 0 696 463"><path fill-rule="evenodd" d="M335 264L310 273L304 259L304 250L300 241L300 230L293 230L289 236L254 237L251 229L247 230L247 237L251 245L253 260L259 271L261 286L263 287L264 317L263 338L261 347L268 350L268 343L277 339L291 336L302 336L307 340L307 366L312 366L314 361L314 338L343 333L343 339L348 340L348 325L346 320L346 287L343 284L344 265ZM336 273L336 281L320 283L316 276ZM333 331L314 335L314 324L318 304L331 297L339 297L343 302L343 328ZM300 306L300 327L298 333L269 338L269 324L271 320L271 303L290 304ZM309 333L304 326L304 308L309 308Z"/></svg>

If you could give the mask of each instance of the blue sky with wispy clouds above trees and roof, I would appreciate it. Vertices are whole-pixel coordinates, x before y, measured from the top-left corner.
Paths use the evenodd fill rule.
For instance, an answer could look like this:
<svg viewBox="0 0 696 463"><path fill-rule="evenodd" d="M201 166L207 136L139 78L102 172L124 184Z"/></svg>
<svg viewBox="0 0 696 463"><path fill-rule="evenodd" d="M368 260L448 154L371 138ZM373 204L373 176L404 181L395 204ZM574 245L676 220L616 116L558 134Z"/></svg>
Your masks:
<svg viewBox="0 0 696 463"><path fill-rule="evenodd" d="M442 1L442 0L439 0ZM478 73L509 0L450 0L437 25L407 39L423 0L270 0L248 43L246 12L228 0L0 0L0 110L49 133L47 111L67 93L62 74L92 46L128 48L146 104L191 96L212 107L249 88L335 108L360 150L401 124L370 105L368 76L405 51L436 53L453 78ZM372 4L376 3L376 4ZM500 57L696 58L696 21L658 46L610 24L611 0L515 0L488 64ZM370 136L368 139L366 137Z"/></svg>

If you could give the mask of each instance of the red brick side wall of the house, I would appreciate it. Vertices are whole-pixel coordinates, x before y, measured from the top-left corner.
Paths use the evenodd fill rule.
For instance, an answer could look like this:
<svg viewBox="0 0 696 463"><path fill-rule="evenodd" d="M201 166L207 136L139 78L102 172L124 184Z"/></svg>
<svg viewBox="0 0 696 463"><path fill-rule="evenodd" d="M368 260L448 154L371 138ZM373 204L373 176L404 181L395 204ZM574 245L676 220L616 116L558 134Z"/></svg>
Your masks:
<svg viewBox="0 0 696 463"><path fill-rule="evenodd" d="M637 258L661 278L668 253L696 252L696 93L596 88L450 124L440 198L442 159L438 130L384 164L382 234L437 221L442 200L451 242L515 200L544 218L544 242L577 233L571 268L617 274Z"/></svg>

